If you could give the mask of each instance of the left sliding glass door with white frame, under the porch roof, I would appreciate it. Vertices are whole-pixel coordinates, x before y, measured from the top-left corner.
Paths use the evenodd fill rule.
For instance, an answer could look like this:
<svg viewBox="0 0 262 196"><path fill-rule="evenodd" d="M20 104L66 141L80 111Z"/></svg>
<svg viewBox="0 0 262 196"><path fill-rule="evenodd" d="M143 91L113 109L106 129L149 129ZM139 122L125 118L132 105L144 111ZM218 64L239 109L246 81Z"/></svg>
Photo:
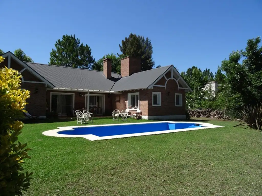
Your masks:
<svg viewBox="0 0 262 196"><path fill-rule="evenodd" d="M59 116L73 116L73 95L52 94L51 111Z"/></svg>

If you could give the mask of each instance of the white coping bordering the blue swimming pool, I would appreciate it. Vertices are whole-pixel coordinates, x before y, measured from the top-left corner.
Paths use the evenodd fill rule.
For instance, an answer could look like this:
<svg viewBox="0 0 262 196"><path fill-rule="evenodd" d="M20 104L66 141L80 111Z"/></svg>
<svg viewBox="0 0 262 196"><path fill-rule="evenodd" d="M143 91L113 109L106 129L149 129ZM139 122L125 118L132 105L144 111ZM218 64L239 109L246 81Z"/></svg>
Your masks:
<svg viewBox="0 0 262 196"><path fill-rule="evenodd" d="M96 126L117 126L117 125L133 125L133 124L150 124L150 123L190 123L190 124L200 124L204 127L196 127L196 128L187 128L187 129L174 129L174 130L165 130L165 131L152 131L152 132L143 132L143 133L132 133L132 134L123 134L123 135L111 135L111 136L96 136L92 134L86 135L66 135L59 134L59 131L66 130L74 130L74 128L79 127L96 127ZM123 138L123 137L134 137L134 136L143 136L143 135L155 135L155 134L163 134L163 133L173 133L173 132L181 132L181 131L192 131L198 129L210 129L210 128L218 128L223 127L219 125L213 125L210 123L201 123L201 122L177 122L177 121L157 121L157 122L145 122L145 123L117 123L117 124L105 124L105 125L81 125L81 126L63 126L58 127L58 129L53 129L49 131L44 131L42 134L46 136L54 136L54 137L84 137L85 139L95 141L95 140L107 140L107 139L115 139L115 138Z"/></svg>

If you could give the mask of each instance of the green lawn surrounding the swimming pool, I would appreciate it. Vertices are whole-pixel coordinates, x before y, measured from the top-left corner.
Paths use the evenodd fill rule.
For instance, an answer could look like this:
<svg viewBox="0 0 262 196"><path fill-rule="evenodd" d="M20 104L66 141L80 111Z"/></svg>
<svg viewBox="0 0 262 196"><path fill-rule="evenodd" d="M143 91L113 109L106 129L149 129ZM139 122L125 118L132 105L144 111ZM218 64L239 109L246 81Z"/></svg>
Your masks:
<svg viewBox="0 0 262 196"><path fill-rule="evenodd" d="M261 132L208 123L225 127L89 141L42 135L76 121L25 124L24 168L34 172L25 195L261 195Z"/></svg>

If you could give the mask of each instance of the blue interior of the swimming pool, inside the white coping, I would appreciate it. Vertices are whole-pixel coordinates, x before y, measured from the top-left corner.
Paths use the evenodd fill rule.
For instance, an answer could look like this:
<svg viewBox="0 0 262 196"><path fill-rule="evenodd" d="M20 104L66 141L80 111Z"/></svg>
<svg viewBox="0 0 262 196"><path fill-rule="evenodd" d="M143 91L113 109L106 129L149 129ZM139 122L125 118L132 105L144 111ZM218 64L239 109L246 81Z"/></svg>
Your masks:
<svg viewBox="0 0 262 196"><path fill-rule="evenodd" d="M99 137L111 136L111 135L122 135L122 134L133 134L143 133L152 131L165 131L174 129L186 129L201 127L195 123L144 123L144 124L119 124L114 126L90 126L90 127L78 127L73 128L74 130L58 131L59 134L66 135L87 135L92 134Z"/></svg>

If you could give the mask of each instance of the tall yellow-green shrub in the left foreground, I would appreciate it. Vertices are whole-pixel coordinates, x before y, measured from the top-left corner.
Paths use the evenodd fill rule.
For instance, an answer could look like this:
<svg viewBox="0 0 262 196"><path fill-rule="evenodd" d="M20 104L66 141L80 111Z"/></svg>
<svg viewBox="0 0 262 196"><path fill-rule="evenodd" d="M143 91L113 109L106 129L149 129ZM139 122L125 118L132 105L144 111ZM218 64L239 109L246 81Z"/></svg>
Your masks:
<svg viewBox="0 0 262 196"><path fill-rule="evenodd" d="M21 191L30 186L32 173L22 167L24 159L30 158L30 149L18 141L23 123L17 120L23 116L29 91L20 89L20 83L18 71L0 69L0 195L22 195Z"/></svg>

